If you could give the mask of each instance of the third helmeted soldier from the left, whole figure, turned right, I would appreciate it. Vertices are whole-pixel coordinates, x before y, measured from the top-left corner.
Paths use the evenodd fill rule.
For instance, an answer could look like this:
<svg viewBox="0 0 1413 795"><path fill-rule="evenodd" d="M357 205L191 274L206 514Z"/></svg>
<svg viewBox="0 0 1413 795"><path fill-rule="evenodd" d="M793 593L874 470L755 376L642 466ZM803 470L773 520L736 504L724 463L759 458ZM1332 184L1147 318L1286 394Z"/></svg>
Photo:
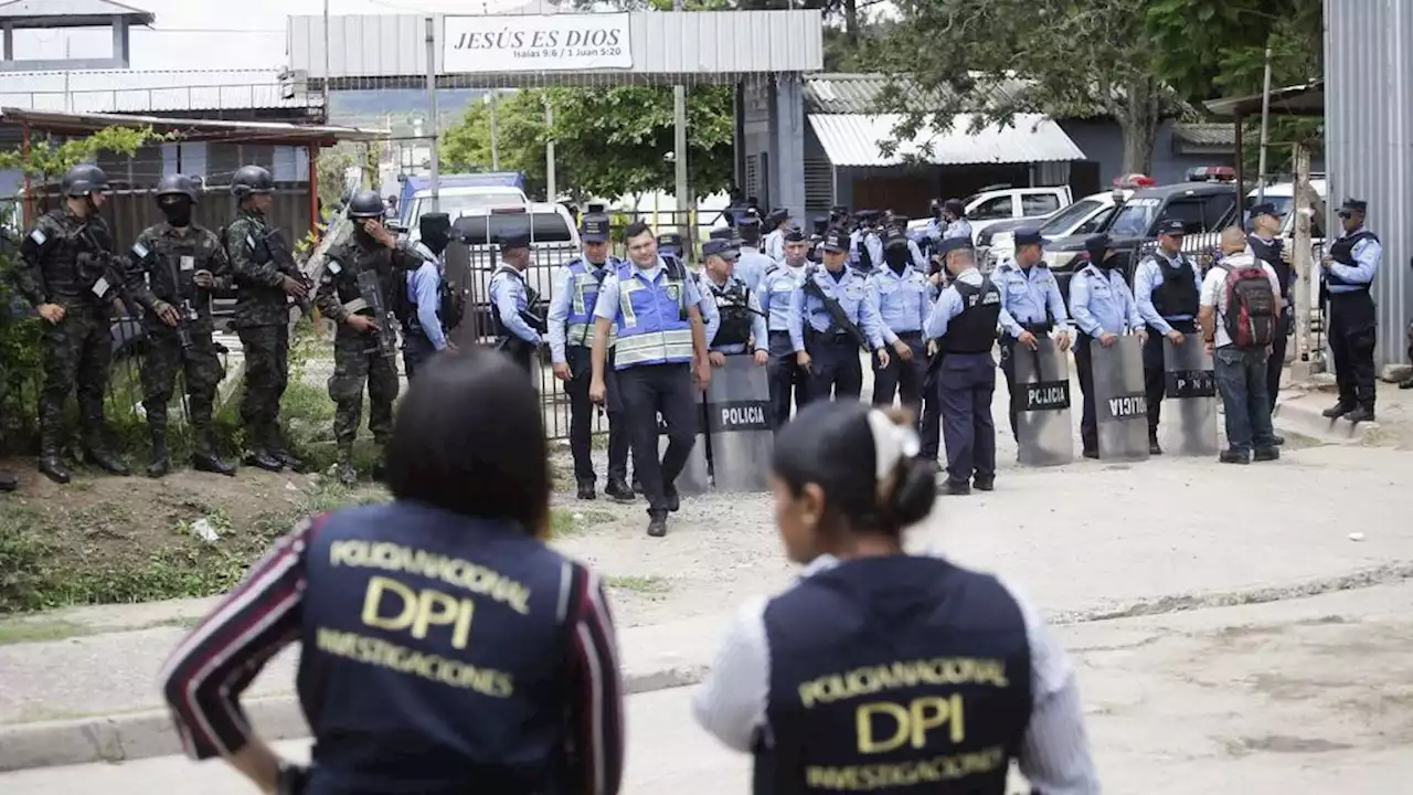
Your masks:
<svg viewBox="0 0 1413 795"><path fill-rule="evenodd" d="M225 243L237 287L235 327L246 355L240 399L250 443L246 463L271 472L300 471L302 461L280 440L280 399L290 383L290 298L305 301L309 290L292 260L285 260L287 242L266 224L274 177L259 166L242 166L230 178L230 194L237 211Z"/></svg>

